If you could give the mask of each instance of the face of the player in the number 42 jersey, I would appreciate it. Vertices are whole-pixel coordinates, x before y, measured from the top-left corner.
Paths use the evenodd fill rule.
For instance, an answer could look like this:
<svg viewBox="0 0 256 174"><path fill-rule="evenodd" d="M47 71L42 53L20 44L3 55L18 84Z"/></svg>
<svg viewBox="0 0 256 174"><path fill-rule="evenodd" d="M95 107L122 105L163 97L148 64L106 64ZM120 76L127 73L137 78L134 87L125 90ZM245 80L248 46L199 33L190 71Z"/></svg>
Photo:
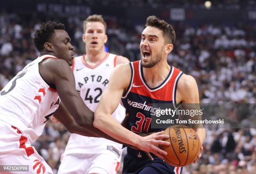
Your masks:
<svg viewBox="0 0 256 174"><path fill-rule="evenodd" d="M83 34L83 41L87 51L104 51L104 44L108 37L105 33L105 26L101 22L88 22L86 31Z"/></svg>

